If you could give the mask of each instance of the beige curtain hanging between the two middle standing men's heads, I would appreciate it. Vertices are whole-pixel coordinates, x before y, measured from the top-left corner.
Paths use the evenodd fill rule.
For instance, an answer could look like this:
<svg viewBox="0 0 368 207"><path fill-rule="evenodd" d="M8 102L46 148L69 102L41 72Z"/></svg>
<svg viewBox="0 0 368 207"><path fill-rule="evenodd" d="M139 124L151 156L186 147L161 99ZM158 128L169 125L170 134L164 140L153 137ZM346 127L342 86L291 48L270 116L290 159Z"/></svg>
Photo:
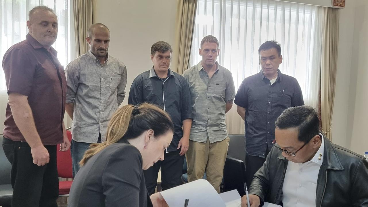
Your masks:
<svg viewBox="0 0 368 207"><path fill-rule="evenodd" d="M198 0L178 0L175 42L171 69L183 74L188 69Z"/></svg>

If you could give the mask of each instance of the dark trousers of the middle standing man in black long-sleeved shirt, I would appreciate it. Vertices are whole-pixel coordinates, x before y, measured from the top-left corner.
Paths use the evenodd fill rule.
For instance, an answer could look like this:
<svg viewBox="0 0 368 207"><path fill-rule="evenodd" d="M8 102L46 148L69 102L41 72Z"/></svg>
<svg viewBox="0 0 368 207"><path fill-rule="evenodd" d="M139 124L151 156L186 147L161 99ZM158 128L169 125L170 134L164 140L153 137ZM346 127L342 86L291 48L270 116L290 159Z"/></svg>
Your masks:
<svg viewBox="0 0 368 207"><path fill-rule="evenodd" d="M162 190L167 190L182 184L181 175L183 173L184 155L180 156L179 153L180 150L165 153L163 161L158 161L153 166L143 171L146 187L150 195L155 193L160 167Z"/></svg>

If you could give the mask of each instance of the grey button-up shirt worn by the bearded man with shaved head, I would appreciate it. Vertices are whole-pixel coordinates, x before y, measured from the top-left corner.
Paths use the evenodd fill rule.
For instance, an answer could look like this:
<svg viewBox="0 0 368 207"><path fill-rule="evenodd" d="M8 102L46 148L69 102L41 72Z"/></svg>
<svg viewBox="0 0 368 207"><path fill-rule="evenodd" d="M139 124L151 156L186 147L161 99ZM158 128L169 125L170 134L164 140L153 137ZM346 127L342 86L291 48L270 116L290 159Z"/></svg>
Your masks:
<svg viewBox="0 0 368 207"><path fill-rule="evenodd" d="M66 102L74 102L72 137L75 141L96 143L99 133L105 141L107 123L125 97L127 69L107 55L105 64L88 51L68 64Z"/></svg>

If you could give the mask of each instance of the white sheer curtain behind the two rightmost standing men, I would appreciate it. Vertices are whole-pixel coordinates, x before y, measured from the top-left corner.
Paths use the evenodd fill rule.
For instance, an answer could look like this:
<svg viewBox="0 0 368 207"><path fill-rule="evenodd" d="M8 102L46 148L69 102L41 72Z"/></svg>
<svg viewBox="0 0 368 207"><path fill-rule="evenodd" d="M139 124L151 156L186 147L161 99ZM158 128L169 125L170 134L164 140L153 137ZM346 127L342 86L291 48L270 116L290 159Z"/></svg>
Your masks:
<svg viewBox="0 0 368 207"><path fill-rule="evenodd" d="M282 73L295 77L306 105L317 108L321 66L323 7L273 0L198 0L190 65L201 60L200 42L214 35L220 42L217 61L231 71L235 88L258 73L258 48L268 40L281 44ZM227 130L244 133L236 105L227 113Z"/></svg>

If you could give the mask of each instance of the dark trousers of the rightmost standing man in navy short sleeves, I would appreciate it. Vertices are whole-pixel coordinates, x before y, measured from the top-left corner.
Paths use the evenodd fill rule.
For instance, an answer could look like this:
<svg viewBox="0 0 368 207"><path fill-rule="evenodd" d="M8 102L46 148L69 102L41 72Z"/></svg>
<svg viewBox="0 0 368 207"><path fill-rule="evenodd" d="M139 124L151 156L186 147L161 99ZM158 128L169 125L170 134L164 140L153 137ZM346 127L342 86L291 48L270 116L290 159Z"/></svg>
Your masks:
<svg viewBox="0 0 368 207"><path fill-rule="evenodd" d="M262 167L263 163L266 161L266 157L268 155L268 147L266 149L265 157L258 157L258 156L252 156L252 155L245 155L245 169L246 172L246 182L247 186L251 185L251 182L253 180L254 174L259 170L259 168Z"/></svg>

